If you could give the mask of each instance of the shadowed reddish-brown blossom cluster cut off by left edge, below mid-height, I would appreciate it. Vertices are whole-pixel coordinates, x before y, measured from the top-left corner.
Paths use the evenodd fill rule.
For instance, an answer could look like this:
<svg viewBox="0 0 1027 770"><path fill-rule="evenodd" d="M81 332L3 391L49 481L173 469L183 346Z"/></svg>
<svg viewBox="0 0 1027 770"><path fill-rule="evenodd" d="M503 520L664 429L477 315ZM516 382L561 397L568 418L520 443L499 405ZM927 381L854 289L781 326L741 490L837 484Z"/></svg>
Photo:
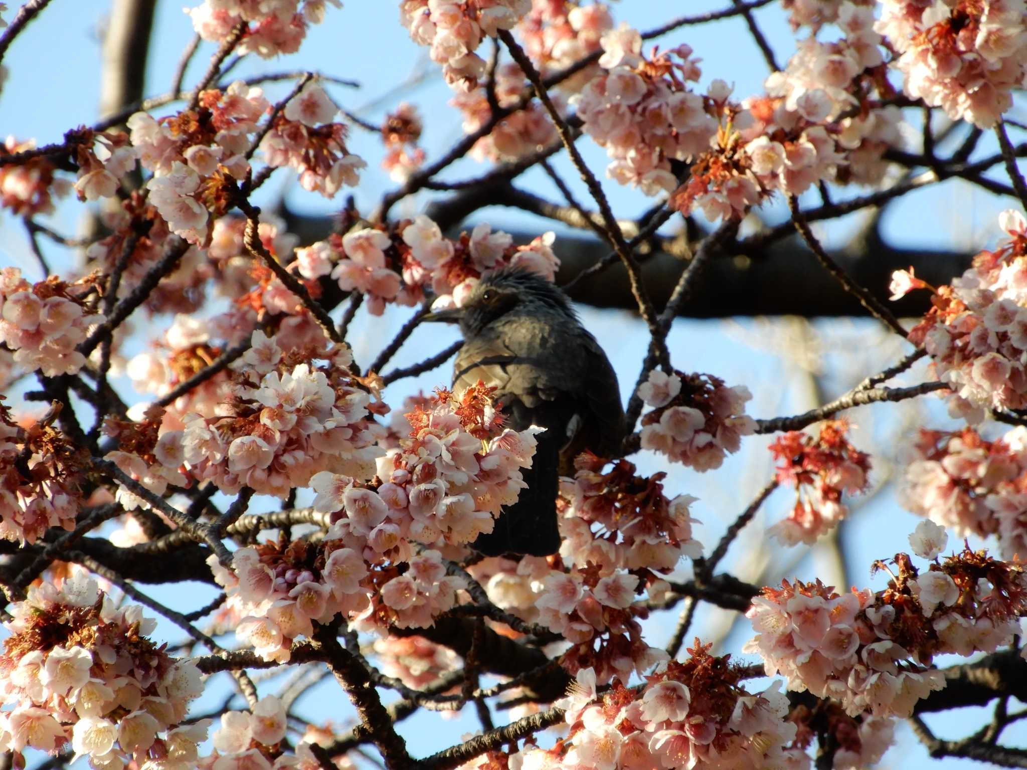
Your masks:
<svg viewBox="0 0 1027 770"><path fill-rule="evenodd" d="M50 527L73 530L87 463L49 420L20 428L0 397L0 538L34 543Z"/></svg>

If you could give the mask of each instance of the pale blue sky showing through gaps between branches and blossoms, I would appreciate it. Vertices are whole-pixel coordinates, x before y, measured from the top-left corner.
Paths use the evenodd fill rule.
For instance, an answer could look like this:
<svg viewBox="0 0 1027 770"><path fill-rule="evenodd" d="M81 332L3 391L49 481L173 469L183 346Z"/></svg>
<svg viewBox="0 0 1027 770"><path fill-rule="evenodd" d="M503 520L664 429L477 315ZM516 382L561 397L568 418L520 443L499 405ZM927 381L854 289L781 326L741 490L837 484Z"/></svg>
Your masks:
<svg viewBox="0 0 1027 770"><path fill-rule="evenodd" d="M154 41L147 65L147 92L150 94L168 89L180 52L192 36L189 18L182 8L185 4L185 0L160 0L157 3ZM614 3L613 13L618 21L624 20L646 30L681 13L702 13L726 4L726 0L645 0ZM326 23L310 31L299 53L271 62L248 60L236 72L245 77L311 69L357 80L362 83L357 89L332 86L330 90L345 109L357 112L375 123L397 102L413 102L425 116L422 144L430 162L461 136L461 120L456 110L448 106L451 92L427 62L425 51L411 43L400 26L396 5L395 2L382 0L348 0L342 10L329 10ZM82 123L89 124L99 117L96 107L99 97L99 33L108 10L107 2L97 0L53 0L15 41L4 60L10 75L0 91L0 128L5 134L14 133L18 139L35 137L40 144L46 144L60 141L67 129ZM12 10L7 12L8 20L11 15ZM783 14L776 7L767 7L757 11L756 15L775 48L778 61L786 62L795 43ZM657 42L667 46L682 42L691 45L696 55L702 59L701 85L705 87L711 79L719 77L735 85L738 98L758 92L767 74L745 24L737 18L701 29L686 28ZM200 47L188 72L187 84L195 82L206 68L213 49L212 44ZM419 72L426 72L422 81L404 85ZM274 99L283 95L290 87L290 84L268 86L267 92ZM382 94L388 94L388 98L378 103ZM170 108L158 110L156 114L159 116L168 112ZM1022 118L1023 111L1015 111L1014 116ZM356 129L351 149L369 162L364 181L354 191L357 206L368 213L384 192L393 189L394 183L378 168L381 148L377 140ZM581 149L592 167L602 171L606 165L603 151L587 141L581 143ZM991 151L985 144L979 152L987 154ZM569 172L566 158L559 158L556 166L564 172L578 199L587 200L583 185L573 171ZM446 179L477 176L484 170L480 164L468 159L448 169ZM599 176L617 216L632 217L651 205L652 201L637 191L619 188L602 179L602 174ZM559 197L541 172L525 175L521 184L553 199ZM859 194L859 191L844 191L838 197L849 194ZM257 202L273 203L282 195L288 205L310 214L332 213L342 202L341 199L326 201L305 193L295 183L290 183L282 172L264 186ZM412 216L423 209L428 199L427 194L414 196L394 208L393 216ZM983 247L994 242L997 235L994 215L1005 205L994 196L976 191L963 183L950 182L896 204L884 219L884 234L902 245ZM82 210L77 202L66 201L59 206L48 224L63 233L74 235ZM767 206L763 216L777 222L786 217L786 209L778 202ZM476 221L482 220L491 222L496 228L505 226L537 230L539 233L551 229L558 232L558 236L562 232L560 226L512 209L483 209ZM859 215L851 216L846 221L824 226L819 233L828 242L840 244L859 221ZM676 226L674 220L671 226ZM558 254L559 243L558 237ZM73 265L72 255L62 254L49 243L44 243L44 248L59 272ZM38 279L21 223L6 215L0 215L0 265L23 266L30 279ZM408 315L409 311L403 309L371 322L365 314L358 315L352 336L357 359L365 363L370 360ZM634 315L622 311L585 310L583 319L610 354L626 397L645 351L647 338L644 326ZM138 325L139 334L129 344L129 350L142 349L149 337L158 335L169 322L169 318L158 317L149 329ZM442 349L453 339L452 335L453 331L448 328L418 330L401 350L393 365L416 362L425 354ZM833 397L909 350L886 337L871 321L845 319L819 321L811 328L787 319L679 319L669 343L679 369L708 372L729 384L748 385L755 394L750 414L756 417L803 412L815 406L817 392L821 400ZM919 382L921 379L918 378L922 377L922 372L915 372L906 382ZM418 388L429 390L448 381L447 367L415 381L397 383L388 389L386 395L391 402L398 405L404 395ZM129 401L143 397L135 393L130 383L123 378L116 380L115 385ZM888 478L889 473L895 471L890 463L910 426L923 419L929 419L935 427L948 424L944 410L939 409L937 400L929 397L901 409L863 409L851 413L851 419L857 425L858 446L874 453L873 478L878 482ZM768 480L771 472L769 456L765 451L768 441L768 438L761 437L747 440L743 451L717 471L697 474L682 468L668 469L671 471L667 482L669 492L688 493L699 498L695 515L703 524L697 536L708 546L716 543L727 524ZM637 459L645 472L667 469L652 457L641 455ZM765 568L762 572L768 581L776 581L781 577L809 579L815 575L839 575L830 549L820 548L810 552L808 548L797 547L782 550L762 537L762 530L775 522L791 502L788 492L779 490L774 493L750 531L732 546L725 567L741 570L754 580L760 567ZM906 548L906 536L915 526L916 518L898 507L890 488L873 495L869 501L853 501L852 508L852 516L845 523L841 535L847 580L861 586L870 584L880 587L879 578L870 580L870 563ZM182 596L179 589L157 588L152 593L163 601ZM189 607L200 606L208 596L208 589L197 586L195 599L190 598L188 602ZM652 643L661 645L670 637L675 621L673 615L650 621ZM179 639L177 630L169 628L168 624L164 623L161 627L170 639ZM748 623L731 629L723 613L705 607L697 615L693 632L713 639L728 634L724 637L725 649L737 650L751 631ZM340 708L342 702L335 684L328 683L300 701L300 710L311 719L331 717L340 721L346 715L345 708ZM972 732L978 724L972 724L964 719L966 713L962 711L929 718L928 722L946 737L959 737ZM462 733L474 728L477 721L472 719L443 721L439 715L428 713L404 722L401 732L418 750L430 752L452 743ZM904 735L903 742L891 749L885 763L902 763L906 767L934 764L928 763L925 753L905 727L901 727L900 732ZM1016 742L1016 737L1023 741L1025 735L1022 730L1019 736L1010 730L1006 737ZM944 764L955 767L966 763L947 760Z"/></svg>

